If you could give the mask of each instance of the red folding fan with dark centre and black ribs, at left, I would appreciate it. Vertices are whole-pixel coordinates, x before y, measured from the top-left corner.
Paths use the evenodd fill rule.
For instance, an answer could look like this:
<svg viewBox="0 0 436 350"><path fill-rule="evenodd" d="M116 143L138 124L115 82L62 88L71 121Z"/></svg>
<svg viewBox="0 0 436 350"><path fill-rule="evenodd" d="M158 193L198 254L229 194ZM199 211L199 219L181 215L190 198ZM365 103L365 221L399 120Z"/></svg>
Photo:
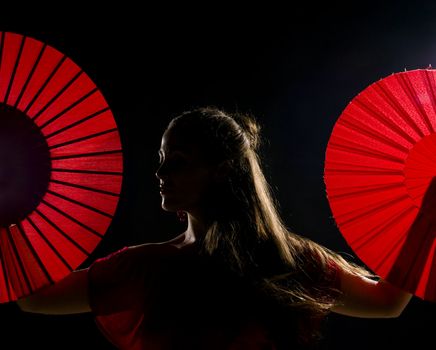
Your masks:
<svg viewBox="0 0 436 350"><path fill-rule="evenodd" d="M108 229L121 191L117 125L74 62L0 32L0 302L77 268Z"/></svg>

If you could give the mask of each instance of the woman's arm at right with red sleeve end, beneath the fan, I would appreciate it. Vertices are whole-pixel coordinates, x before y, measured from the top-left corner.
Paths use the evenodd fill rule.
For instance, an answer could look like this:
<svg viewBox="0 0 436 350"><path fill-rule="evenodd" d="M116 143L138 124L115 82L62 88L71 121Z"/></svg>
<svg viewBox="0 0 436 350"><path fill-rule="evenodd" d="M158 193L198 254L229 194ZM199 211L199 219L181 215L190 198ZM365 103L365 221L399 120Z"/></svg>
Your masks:
<svg viewBox="0 0 436 350"><path fill-rule="evenodd" d="M371 318L398 317L413 294L382 279L375 281L339 270L342 298L333 312Z"/></svg>

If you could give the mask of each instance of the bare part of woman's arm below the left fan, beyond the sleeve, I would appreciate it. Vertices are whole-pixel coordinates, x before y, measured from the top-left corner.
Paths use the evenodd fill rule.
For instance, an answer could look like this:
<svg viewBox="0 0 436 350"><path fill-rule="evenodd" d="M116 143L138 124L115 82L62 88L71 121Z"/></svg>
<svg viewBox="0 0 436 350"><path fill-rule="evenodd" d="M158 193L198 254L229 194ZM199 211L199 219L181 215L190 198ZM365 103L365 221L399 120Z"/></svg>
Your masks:
<svg viewBox="0 0 436 350"><path fill-rule="evenodd" d="M42 314L89 312L87 272L87 269L74 271L59 282L17 300L17 304L23 311Z"/></svg>

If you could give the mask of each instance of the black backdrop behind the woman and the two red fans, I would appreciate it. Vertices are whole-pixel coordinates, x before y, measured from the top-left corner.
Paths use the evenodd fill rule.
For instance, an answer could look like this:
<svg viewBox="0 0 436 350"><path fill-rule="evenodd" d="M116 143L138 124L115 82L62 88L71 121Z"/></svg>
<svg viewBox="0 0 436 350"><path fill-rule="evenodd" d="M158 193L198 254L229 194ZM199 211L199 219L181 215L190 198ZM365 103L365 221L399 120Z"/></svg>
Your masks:
<svg viewBox="0 0 436 350"><path fill-rule="evenodd" d="M329 135L369 84L436 65L436 7L430 1L242 11L217 4L121 5L90 13L75 4L50 15L29 9L32 20L20 16L23 11L0 15L0 30L32 36L75 61L100 88L119 126L125 176L118 210L83 267L125 245L181 232L175 216L159 206L157 150L171 117L203 105L254 114L263 126L265 172L286 224L352 254L325 196ZM435 321L435 305L418 298L397 319L331 315L324 347L431 347ZM91 315L32 315L3 304L0 324L1 349L112 349Z"/></svg>

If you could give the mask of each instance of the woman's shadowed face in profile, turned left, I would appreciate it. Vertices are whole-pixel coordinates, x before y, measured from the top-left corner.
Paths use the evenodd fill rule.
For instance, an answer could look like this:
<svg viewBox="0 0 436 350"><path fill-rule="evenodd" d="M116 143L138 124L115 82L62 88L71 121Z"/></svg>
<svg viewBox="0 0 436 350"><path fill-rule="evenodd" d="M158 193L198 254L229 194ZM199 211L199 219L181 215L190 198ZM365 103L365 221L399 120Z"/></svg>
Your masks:
<svg viewBox="0 0 436 350"><path fill-rule="evenodd" d="M216 166L208 164L198 146L183 142L171 129L162 136L159 179L162 208L193 212L207 200L207 190L215 183Z"/></svg>

